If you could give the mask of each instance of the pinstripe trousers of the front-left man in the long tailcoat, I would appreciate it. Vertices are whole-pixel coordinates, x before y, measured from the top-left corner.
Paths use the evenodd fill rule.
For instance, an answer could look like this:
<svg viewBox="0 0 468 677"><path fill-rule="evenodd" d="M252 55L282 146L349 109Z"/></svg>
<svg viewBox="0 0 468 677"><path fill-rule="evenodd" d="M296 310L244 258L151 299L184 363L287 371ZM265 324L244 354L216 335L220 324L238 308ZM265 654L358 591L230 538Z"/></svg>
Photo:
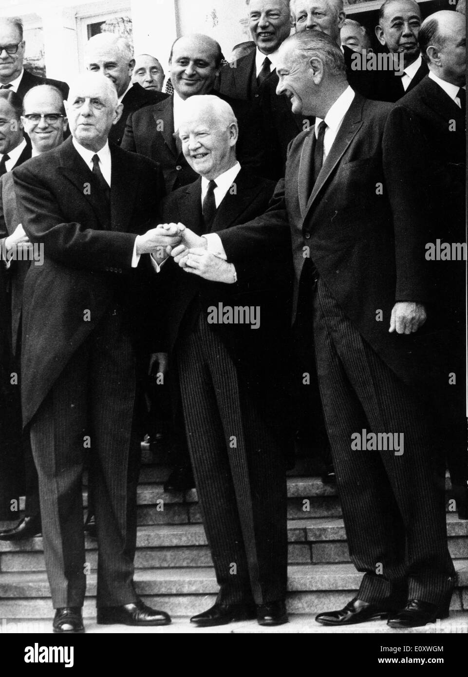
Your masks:
<svg viewBox="0 0 468 677"><path fill-rule="evenodd" d="M42 533L54 608L81 607L86 589L82 477L98 531L98 607L134 602L139 439L132 431L135 356L107 311L72 356L30 427L39 474ZM86 448L85 437L90 439Z"/></svg>

